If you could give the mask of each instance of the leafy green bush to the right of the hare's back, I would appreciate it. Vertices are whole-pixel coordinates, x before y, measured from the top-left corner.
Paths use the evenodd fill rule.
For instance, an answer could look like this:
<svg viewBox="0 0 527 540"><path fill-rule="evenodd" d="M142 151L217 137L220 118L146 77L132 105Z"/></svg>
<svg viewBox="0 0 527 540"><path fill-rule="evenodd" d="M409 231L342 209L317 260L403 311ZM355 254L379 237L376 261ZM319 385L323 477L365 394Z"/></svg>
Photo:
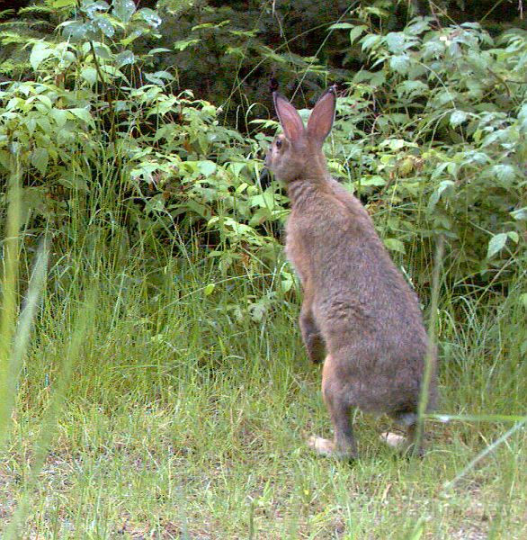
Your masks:
<svg viewBox="0 0 527 540"><path fill-rule="evenodd" d="M525 257L527 34L415 19L359 45L367 64L340 100L335 155L382 212L388 247L426 260L441 233L456 281L505 283Z"/></svg>

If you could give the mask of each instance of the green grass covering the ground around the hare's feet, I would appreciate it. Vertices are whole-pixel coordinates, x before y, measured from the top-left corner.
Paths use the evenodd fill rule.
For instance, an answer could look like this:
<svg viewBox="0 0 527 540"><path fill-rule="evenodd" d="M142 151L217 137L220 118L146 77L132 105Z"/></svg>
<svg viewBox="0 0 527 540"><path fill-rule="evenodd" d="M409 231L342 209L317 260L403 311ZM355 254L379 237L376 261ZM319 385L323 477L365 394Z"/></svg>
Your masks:
<svg viewBox="0 0 527 540"><path fill-rule="evenodd" d="M406 460L378 440L388 419L359 413L361 459L319 458L298 296L256 322L264 276L222 280L197 253L158 266L89 249L51 266L2 427L4 537L527 536L524 429L492 447L514 423L429 419L427 455ZM521 284L494 308L442 293L442 413L525 414Z"/></svg>

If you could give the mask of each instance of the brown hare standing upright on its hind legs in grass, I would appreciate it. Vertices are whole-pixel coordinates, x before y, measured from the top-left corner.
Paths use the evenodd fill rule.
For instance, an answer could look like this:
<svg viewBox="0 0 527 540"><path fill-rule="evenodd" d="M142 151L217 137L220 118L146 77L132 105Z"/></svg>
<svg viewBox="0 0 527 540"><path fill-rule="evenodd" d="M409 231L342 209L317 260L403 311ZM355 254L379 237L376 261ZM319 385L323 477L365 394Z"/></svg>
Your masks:
<svg viewBox="0 0 527 540"><path fill-rule="evenodd" d="M304 290L300 329L308 356L324 358L322 391L335 439L312 438L321 454L356 456L351 411L385 412L409 424L424 374L427 335L415 293L397 271L361 202L328 174L322 152L335 93L318 100L307 129L274 94L283 135L266 166L287 186L291 213L286 253ZM433 406L433 374L429 403Z"/></svg>

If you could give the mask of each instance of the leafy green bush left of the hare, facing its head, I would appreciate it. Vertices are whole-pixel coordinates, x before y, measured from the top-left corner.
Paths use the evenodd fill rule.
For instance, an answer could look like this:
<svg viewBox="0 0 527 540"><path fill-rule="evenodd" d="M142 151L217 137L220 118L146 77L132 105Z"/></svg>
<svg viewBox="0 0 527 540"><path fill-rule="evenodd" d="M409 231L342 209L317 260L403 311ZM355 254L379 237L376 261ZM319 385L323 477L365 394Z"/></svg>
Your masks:
<svg viewBox="0 0 527 540"><path fill-rule="evenodd" d="M172 94L170 72L148 71L163 49L139 55L131 44L159 19L132 4L84 2L60 25L63 40L32 43L34 80L0 92L0 174L15 156L26 227L50 221L67 236L72 209L80 201L90 220L103 190L113 227L132 241L187 241L192 229L222 271L274 260L262 227L281 218L283 197L255 184L255 144L191 91Z"/></svg>

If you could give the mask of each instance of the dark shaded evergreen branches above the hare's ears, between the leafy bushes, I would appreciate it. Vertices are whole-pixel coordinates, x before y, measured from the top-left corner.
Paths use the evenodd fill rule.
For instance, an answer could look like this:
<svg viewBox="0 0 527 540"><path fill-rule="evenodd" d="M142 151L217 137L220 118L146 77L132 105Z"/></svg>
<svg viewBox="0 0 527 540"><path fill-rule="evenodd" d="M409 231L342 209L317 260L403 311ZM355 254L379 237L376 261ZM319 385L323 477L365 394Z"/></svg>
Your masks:
<svg viewBox="0 0 527 540"><path fill-rule="evenodd" d="M309 96L326 86L327 61L346 39L326 31L350 9L338 0L324 6L300 0L269 3L161 0L163 46L159 66L177 67L178 84L221 103L231 124L249 122L272 107L271 77Z"/></svg>

